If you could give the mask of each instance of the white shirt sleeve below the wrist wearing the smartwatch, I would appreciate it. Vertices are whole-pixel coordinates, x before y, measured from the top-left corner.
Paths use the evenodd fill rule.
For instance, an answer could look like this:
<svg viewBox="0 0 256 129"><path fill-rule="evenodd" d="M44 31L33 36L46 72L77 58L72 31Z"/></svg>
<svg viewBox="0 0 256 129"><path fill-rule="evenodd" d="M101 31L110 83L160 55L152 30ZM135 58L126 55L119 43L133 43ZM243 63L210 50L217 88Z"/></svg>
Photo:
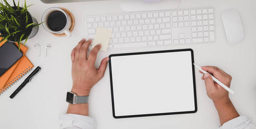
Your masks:
<svg viewBox="0 0 256 129"><path fill-rule="evenodd" d="M94 119L78 114L60 114L60 129L95 129Z"/></svg>

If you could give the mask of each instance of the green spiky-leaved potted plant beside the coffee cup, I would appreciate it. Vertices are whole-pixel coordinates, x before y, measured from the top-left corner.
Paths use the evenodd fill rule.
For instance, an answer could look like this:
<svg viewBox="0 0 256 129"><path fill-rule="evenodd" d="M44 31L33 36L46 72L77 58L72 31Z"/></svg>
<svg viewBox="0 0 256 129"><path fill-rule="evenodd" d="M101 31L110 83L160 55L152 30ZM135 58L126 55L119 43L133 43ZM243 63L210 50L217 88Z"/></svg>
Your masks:
<svg viewBox="0 0 256 129"><path fill-rule="evenodd" d="M31 6L31 5L29 5ZM24 7L16 6L13 0L13 6L3 0L0 2L0 42L3 40L9 40L11 42L18 42L19 46L22 40L25 40L24 44L29 38L34 37L38 31L37 21L28 12L26 0Z"/></svg>

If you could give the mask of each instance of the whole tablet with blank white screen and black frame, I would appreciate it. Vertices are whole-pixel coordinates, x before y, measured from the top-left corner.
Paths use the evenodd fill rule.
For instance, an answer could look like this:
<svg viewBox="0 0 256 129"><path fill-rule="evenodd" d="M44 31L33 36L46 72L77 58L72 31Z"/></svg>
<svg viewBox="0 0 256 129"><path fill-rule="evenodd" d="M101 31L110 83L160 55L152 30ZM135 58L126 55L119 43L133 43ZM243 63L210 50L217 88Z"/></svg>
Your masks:
<svg viewBox="0 0 256 129"><path fill-rule="evenodd" d="M192 49L109 55L114 118L197 112Z"/></svg>

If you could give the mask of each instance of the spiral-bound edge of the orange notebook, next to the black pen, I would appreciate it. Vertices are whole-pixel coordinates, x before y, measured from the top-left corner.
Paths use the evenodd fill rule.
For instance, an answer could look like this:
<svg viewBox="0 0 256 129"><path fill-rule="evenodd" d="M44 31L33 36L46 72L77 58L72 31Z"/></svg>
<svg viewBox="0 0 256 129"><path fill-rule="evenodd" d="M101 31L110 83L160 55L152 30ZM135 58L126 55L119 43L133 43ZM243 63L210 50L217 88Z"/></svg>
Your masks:
<svg viewBox="0 0 256 129"><path fill-rule="evenodd" d="M6 89L9 89L13 84L15 84L18 80L20 80L22 77L24 77L28 72L30 72L33 68L26 68L22 73L18 74L14 79L12 79L9 83L6 83L3 88L0 89L0 95L3 94L3 92L6 91Z"/></svg>

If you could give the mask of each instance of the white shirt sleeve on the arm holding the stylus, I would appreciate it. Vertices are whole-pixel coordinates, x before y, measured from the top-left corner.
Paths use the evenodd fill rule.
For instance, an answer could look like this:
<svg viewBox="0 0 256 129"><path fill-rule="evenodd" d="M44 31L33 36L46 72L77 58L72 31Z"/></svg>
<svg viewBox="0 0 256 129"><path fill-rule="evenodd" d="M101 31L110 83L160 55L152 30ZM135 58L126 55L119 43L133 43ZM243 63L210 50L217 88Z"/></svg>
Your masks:
<svg viewBox="0 0 256 129"><path fill-rule="evenodd" d="M256 129L256 125L250 122L250 118L240 116L232 120L229 120L218 129Z"/></svg>

